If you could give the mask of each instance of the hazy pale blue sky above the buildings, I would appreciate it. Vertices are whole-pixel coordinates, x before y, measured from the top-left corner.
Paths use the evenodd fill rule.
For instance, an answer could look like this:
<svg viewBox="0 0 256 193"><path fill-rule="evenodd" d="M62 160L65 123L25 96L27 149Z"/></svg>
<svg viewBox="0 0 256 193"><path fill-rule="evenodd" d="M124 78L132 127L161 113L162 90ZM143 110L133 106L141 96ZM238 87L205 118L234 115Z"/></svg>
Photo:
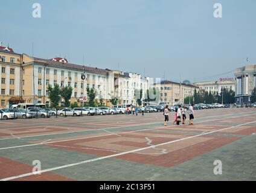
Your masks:
<svg viewBox="0 0 256 193"><path fill-rule="evenodd" d="M222 18L213 15L217 2ZM34 3L41 18L32 16ZM191 82L233 77L256 63L255 0L11 0L0 7L0 42L20 54Z"/></svg>

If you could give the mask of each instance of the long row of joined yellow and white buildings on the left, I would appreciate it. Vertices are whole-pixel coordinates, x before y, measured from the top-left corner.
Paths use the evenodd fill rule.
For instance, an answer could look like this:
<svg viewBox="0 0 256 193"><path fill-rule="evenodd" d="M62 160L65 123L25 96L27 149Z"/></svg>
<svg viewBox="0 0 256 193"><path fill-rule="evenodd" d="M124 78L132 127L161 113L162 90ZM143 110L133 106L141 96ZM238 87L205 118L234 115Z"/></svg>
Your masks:
<svg viewBox="0 0 256 193"><path fill-rule="evenodd" d="M34 99L49 104L47 88L54 84L73 88L71 103L87 96L87 87L94 88L96 99L102 99L106 106L112 106L110 99L113 96L120 100L120 104L135 104L135 90L142 89L144 97L149 87L148 78L136 73L75 65L62 58L40 59L17 54L5 47L0 47L0 69L2 108L33 103ZM82 80L82 75L85 75L85 80Z"/></svg>

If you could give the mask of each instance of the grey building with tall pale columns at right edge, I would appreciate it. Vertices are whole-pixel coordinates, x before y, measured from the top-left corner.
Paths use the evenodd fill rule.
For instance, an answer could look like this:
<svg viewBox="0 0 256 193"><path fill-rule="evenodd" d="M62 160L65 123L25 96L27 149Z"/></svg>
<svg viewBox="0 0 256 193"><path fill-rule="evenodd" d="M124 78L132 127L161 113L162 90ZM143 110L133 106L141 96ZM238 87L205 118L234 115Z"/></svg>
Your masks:
<svg viewBox="0 0 256 193"><path fill-rule="evenodd" d="M235 69L235 102L248 103L256 87L256 65Z"/></svg>

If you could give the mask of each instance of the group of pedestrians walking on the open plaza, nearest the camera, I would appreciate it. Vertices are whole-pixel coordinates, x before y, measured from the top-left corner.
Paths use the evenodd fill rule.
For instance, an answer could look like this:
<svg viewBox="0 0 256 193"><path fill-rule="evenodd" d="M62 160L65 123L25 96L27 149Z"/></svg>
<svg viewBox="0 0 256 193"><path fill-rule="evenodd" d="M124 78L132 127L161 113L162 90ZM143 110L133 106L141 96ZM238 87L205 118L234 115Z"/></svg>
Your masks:
<svg viewBox="0 0 256 193"><path fill-rule="evenodd" d="M194 108L193 108L193 104L191 104L188 108L183 106L181 107L181 105L179 105L178 108L175 109L175 116L174 116L174 121L173 121L173 125L176 123L176 125L180 125L181 122L183 125L185 125L186 123L186 119L187 119L187 114L189 115L189 125L193 125L193 121L194 121ZM169 109L168 109L168 105L165 106L164 109L164 126L167 126L167 122L169 121Z"/></svg>

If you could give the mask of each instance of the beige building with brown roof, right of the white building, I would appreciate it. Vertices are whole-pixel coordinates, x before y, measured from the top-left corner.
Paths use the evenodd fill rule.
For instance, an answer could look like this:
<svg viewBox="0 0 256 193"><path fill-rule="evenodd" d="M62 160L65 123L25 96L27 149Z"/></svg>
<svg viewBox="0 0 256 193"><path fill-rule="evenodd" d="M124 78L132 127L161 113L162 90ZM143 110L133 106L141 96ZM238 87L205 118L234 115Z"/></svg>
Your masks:
<svg viewBox="0 0 256 193"><path fill-rule="evenodd" d="M199 90L199 87L193 84L176 83L167 80L152 84L151 87L159 90L161 95L159 102L165 102L170 106L184 104L187 96L193 96L194 90Z"/></svg>

